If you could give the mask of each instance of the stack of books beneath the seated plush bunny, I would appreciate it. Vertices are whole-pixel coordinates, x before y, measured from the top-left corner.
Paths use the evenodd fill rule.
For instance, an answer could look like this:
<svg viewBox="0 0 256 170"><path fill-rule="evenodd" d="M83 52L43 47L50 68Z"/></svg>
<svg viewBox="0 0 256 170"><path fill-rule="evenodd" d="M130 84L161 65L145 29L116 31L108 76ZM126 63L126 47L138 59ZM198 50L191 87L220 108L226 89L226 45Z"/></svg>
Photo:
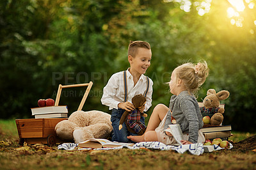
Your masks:
<svg viewBox="0 0 256 170"><path fill-rule="evenodd" d="M209 126L201 130L205 139L228 138L231 136L231 125Z"/></svg>

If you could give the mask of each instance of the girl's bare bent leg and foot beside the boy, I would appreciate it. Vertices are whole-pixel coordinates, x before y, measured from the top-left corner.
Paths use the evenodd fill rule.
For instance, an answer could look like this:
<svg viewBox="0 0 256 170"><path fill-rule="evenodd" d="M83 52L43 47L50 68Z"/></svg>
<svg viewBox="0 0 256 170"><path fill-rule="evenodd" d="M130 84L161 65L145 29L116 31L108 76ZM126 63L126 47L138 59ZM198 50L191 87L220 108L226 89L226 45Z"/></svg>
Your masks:
<svg viewBox="0 0 256 170"><path fill-rule="evenodd" d="M145 131L145 133L143 135L129 135L127 138L131 139L132 141L139 143L139 142L144 142L145 141L145 134L148 131L154 131L158 125L161 123L161 121L163 120L164 116L166 115L166 113L168 112L168 107L166 107L166 105L164 104L158 104L156 105L156 107L154 108L150 119L148 121L148 127ZM154 132L152 132L154 134ZM148 135L151 134L148 133ZM149 137L150 138L150 137ZM149 139L147 137L147 139ZM157 141L157 138L154 138Z"/></svg>

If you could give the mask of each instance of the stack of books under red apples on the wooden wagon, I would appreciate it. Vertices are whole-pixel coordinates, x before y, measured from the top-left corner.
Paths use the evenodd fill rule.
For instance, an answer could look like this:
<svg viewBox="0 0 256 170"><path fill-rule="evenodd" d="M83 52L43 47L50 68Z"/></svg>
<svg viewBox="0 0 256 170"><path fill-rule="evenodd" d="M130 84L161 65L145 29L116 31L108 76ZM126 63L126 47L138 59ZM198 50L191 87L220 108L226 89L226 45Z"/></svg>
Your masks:
<svg viewBox="0 0 256 170"><path fill-rule="evenodd" d="M35 118L67 118L67 105L35 107L31 108L32 116Z"/></svg>

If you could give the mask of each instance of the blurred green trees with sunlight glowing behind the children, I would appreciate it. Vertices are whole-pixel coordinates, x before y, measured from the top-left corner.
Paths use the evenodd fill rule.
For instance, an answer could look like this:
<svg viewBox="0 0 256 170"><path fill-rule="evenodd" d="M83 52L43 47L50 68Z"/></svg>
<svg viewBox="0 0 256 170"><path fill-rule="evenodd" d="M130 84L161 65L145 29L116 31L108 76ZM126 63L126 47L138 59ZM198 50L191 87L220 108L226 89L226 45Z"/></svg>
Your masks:
<svg viewBox="0 0 256 170"><path fill-rule="evenodd" d="M230 2L1 1L0 119L32 118L30 108L40 98L55 99L59 84L89 81L93 87L83 110L110 113L100 102L102 88L113 73L129 67L129 40L143 40L152 47L146 73L154 81L149 116L157 104L169 104L164 82L173 68L205 59L211 72L198 101L209 88L230 91L221 102L226 104L223 124L255 132L256 2ZM84 91L63 90L60 105L68 105L69 115Z"/></svg>

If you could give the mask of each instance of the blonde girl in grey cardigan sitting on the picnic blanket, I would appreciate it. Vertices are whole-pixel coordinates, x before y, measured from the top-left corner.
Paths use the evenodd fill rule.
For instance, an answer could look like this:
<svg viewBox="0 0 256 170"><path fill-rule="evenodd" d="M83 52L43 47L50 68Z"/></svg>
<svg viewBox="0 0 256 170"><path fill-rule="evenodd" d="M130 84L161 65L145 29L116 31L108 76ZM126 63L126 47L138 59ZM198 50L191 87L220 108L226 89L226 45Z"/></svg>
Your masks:
<svg viewBox="0 0 256 170"><path fill-rule="evenodd" d="M177 143L172 134L164 130L170 124L179 123L184 135L182 144L204 143L205 138L200 130L204 123L194 94L204 84L208 73L209 68L205 61L197 65L186 63L175 68L169 82L170 92L173 94L170 107L163 104L156 105L148 121L145 134L129 135L127 138L134 142Z"/></svg>

